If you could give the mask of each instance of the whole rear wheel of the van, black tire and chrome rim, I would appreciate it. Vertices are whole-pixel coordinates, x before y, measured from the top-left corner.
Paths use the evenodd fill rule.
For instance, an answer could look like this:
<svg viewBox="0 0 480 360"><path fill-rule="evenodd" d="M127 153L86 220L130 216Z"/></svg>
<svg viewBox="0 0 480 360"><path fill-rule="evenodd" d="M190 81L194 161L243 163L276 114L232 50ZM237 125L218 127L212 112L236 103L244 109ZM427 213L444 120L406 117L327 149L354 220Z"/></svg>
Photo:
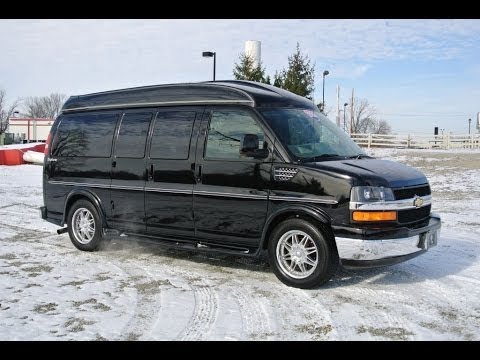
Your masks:
<svg viewBox="0 0 480 360"><path fill-rule="evenodd" d="M90 201L76 201L67 217L68 234L79 250L99 250L103 243L103 227L97 208Z"/></svg>

